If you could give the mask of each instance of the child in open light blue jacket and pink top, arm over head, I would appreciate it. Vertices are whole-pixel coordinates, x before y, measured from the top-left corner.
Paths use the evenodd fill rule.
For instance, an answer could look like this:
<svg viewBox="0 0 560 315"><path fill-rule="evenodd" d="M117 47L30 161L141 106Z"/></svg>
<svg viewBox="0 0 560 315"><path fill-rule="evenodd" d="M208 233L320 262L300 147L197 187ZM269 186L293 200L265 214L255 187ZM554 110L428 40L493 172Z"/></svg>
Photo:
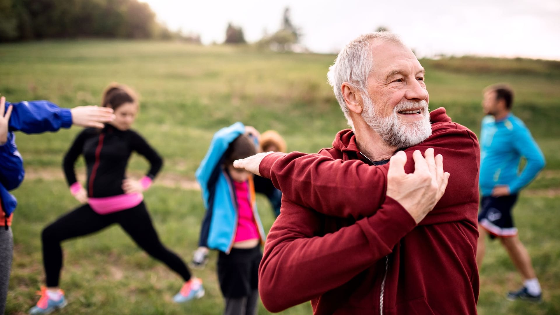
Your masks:
<svg viewBox="0 0 560 315"><path fill-rule="evenodd" d="M197 169L206 213L193 263L203 265L218 250L217 273L225 315L253 315L259 300L258 270L264 229L256 211L253 176L234 161L254 155L253 127L238 122L214 134Z"/></svg>

